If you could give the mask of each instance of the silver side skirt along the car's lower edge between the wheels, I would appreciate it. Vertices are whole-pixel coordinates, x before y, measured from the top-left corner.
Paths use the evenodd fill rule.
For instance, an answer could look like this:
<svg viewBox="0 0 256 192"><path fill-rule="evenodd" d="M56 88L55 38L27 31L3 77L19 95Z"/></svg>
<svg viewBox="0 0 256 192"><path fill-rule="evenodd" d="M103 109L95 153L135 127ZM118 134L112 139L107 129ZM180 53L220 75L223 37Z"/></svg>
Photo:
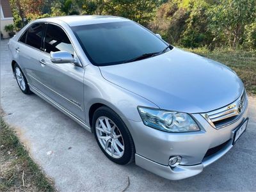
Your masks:
<svg viewBox="0 0 256 192"><path fill-rule="evenodd" d="M65 115L69 116L70 118L72 118L72 120L74 120L75 122L77 122L77 124L81 125L82 127L84 127L84 129L86 129L89 132L92 132L90 126L86 125L82 120L80 120L79 118L77 118L75 115L73 115L72 113L70 113L69 111L67 111L66 109L64 109L63 107L60 106L60 104L56 103L54 100L50 99L49 97L47 97L44 93L40 92L38 89L36 89L34 86L31 86L31 84L29 84L29 88L31 89L31 91L33 93L36 93L36 95L38 95L39 97L41 97L42 99L44 99L45 101L49 102L49 104L51 104L52 106L54 106L55 108L59 109L62 113L64 113Z"/></svg>

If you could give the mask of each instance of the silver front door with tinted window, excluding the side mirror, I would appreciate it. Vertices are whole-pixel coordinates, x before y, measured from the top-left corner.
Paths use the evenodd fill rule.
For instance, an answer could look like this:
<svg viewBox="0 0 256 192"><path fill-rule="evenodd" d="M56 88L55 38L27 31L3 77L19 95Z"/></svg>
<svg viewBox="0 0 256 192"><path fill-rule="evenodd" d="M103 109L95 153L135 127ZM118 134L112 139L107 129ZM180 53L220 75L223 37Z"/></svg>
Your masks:
<svg viewBox="0 0 256 192"><path fill-rule="evenodd" d="M75 53L65 31L54 24L47 24L44 38L44 53L40 54L39 78L42 92L84 122L83 77L84 68L73 63L51 62L51 52Z"/></svg>

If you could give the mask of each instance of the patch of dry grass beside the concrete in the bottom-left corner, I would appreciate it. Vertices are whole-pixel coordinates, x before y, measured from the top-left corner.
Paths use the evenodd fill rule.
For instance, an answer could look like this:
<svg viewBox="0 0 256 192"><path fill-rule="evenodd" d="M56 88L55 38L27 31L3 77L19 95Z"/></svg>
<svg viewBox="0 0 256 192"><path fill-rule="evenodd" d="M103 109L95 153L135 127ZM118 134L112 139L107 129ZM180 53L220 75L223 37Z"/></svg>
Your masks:
<svg viewBox="0 0 256 192"><path fill-rule="evenodd" d="M31 159L15 131L0 117L0 191L56 191L51 179Z"/></svg>

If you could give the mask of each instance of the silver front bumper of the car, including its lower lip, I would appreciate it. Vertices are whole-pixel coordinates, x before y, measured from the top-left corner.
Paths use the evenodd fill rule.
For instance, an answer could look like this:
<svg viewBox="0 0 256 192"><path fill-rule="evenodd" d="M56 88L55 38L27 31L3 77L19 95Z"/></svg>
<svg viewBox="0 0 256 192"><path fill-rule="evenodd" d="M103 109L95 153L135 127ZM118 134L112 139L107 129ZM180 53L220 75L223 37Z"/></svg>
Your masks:
<svg viewBox="0 0 256 192"><path fill-rule="evenodd" d="M136 148L135 162L138 166L170 180L185 179L202 172L205 166L220 159L230 150L234 130L247 118L248 104L243 115L222 129L214 129L204 117L194 114L201 131L168 133L152 129L143 122L125 120ZM205 157L207 150L225 143L218 152ZM171 156L181 156L175 168L168 165Z"/></svg>

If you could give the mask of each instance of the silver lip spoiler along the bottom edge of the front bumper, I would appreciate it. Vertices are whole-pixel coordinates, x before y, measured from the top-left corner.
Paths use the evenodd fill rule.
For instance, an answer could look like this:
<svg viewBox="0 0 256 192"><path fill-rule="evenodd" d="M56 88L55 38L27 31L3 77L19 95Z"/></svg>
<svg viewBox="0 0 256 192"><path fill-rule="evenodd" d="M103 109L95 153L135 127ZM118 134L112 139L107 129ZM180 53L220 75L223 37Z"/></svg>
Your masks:
<svg viewBox="0 0 256 192"><path fill-rule="evenodd" d="M168 165L166 166L164 164L156 163L150 159L140 156L139 154L135 154L135 162L141 168L144 168L145 170L148 170L166 179L186 179L201 173L206 166L220 159L220 157L224 156L232 147L232 140L230 140L228 144L220 151L212 154L209 157L205 157L202 163L195 165L178 165L175 168L170 168Z"/></svg>

